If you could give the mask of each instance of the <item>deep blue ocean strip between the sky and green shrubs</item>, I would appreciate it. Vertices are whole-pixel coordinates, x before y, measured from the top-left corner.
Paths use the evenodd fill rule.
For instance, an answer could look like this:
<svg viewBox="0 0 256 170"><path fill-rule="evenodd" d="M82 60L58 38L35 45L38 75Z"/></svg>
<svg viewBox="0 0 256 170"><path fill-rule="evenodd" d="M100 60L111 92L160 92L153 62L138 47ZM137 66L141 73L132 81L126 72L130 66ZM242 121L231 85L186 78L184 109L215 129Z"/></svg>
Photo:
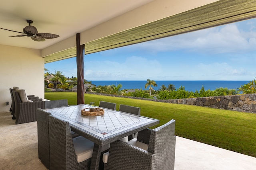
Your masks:
<svg viewBox="0 0 256 170"><path fill-rule="evenodd" d="M164 84L168 87L169 84L173 84L176 89L180 88L180 86L184 86L185 90L195 92L196 90L200 90L202 86L204 86L205 90L216 90L216 88L228 88L228 89L236 89L241 85L247 84L248 81L218 81L218 80L207 80L207 81L155 81L157 87L153 87L154 90L158 90ZM129 89L142 89L145 90L145 84L147 81L92 81L92 84L96 86L105 86L114 84L117 86L118 84L122 84L121 90L129 90ZM148 87L149 88L149 87ZM147 88L147 89L148 89Z"/></svg>

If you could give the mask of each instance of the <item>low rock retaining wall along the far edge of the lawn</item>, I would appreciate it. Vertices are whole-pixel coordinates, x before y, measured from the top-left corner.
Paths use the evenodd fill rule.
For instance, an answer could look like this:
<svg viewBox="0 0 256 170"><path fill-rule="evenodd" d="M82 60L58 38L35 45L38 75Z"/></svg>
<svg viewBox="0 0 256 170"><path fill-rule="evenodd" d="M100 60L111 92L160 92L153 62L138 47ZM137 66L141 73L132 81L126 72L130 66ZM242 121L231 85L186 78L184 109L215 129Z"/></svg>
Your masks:
<svg viewBox="0 0 256 170"><path fill-rule="evenodd" d="M174 99L174 100L157 100L157 99L130 97L130 96L117 96L117 95L102 94L102 93L91 93L91 94L134 98L134 99L140 99L140 100L150 100L155 102L165 102L165 103L172 103L172 104L188 104L188 105L194 105L194 106L211 107L215 109L225 109L225 110L234 110L234 111L241 111L241 112L248 112L248 113L256 113L256 94L242 94L242 95Z"/></svg>

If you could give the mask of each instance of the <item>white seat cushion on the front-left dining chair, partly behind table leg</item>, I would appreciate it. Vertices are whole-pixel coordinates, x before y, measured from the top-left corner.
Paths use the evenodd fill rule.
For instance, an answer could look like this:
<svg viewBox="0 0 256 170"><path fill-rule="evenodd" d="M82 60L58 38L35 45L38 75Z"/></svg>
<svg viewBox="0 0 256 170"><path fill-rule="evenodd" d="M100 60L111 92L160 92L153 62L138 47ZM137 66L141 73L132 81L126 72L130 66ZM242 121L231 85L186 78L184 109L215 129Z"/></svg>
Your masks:
<svg viewBox="0 0 256 170"><path fill-rule="evenodd" d="M74 149L76 152L76 160L77 162L82 162L86 159L92 157L94 143L82 136L76 137L73 139ZM107 150L109 148L108 145L104 145L102 147L102 151Z"/></svg>

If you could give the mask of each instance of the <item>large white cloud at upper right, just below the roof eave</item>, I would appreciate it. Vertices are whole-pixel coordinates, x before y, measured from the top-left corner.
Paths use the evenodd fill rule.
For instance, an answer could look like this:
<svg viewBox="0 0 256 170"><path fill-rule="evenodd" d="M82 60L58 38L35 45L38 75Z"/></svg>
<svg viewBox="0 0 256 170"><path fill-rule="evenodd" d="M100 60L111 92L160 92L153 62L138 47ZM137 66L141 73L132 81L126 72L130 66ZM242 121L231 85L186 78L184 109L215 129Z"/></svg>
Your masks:
<svg viewBox="0 0 256 170"><path fill-rule="evenodd" d="M148 41L134 47L152 53L178 50L212 54L244 53L256 51L256 32L239 30L237 23L233 23Z"/></svg>

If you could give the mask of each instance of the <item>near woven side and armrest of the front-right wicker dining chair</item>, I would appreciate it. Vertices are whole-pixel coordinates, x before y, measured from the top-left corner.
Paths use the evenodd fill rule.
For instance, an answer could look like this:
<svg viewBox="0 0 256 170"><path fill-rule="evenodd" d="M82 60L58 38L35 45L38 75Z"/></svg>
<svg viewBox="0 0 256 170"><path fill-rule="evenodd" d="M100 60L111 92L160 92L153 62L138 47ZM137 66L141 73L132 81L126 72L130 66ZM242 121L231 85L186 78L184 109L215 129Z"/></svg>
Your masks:
<svg viewBox="0 0 256 170"><path fill-rule="evenodd" d="M123 141L110 143L108 163L104 163L104 170L150 169L154 154L147 150L129 145Z"/></svg>

